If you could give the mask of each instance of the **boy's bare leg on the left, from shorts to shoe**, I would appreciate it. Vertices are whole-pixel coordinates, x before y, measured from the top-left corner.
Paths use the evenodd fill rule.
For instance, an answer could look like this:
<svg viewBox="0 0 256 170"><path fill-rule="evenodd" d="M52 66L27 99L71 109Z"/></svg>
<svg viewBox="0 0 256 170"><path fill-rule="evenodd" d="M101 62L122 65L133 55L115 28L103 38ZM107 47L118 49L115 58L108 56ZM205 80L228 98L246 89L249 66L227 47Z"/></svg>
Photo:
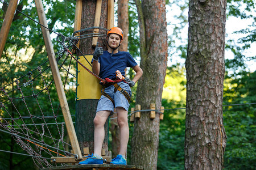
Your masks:
<svg viewBox="0 0 256 170"><path fill-rule="evenodd" d="M102 143L105 138L104 125L108 119L110 111L100 111L94 117L94 154L101 156Z"/></svg>

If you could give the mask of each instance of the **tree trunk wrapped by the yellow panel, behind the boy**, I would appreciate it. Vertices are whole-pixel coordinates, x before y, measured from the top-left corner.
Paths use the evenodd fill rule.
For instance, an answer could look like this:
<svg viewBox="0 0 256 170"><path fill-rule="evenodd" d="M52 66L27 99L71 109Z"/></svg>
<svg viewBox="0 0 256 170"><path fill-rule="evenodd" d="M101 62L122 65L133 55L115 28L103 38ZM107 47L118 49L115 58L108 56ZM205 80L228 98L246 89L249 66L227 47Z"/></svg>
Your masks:
<svg viewBox="0 0 256 170"><path fill-rule="evenodd" d="M81 29L90 28L94 26L94 16L96 11L95 0L84 0L82 1L82 19ZM100 27L107 27L107 15L108 14L108 1L102 1L101 6L101 19ZM93 33L93 29L81 32L80 35ZM106 34L106 31L99 30L99 33ZM106 38L98 37L99 46L106 49ZM80 40L80 49L85 55L93 55L94 48L92 48L92 37ZM81 53L77 51L77 56L81 56ZM89 61L90 62L90 61ZM94 141L94 125L93 119L96 114L97 99L82 99L76 102L76 133L79 141L81 151L83 147L89 147L90 154L93 153L93 141ZM102 148L108 155L108 121L105 124L105 139Z"/></svg>

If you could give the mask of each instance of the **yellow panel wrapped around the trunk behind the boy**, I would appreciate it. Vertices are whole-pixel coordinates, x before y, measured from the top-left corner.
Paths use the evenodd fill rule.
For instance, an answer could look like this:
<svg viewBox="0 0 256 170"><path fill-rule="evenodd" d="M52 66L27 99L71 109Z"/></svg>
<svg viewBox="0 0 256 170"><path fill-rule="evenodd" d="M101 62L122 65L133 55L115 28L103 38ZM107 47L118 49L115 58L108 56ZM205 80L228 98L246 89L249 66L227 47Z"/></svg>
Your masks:
<svg viewBox="0 0 256 170"><path fill-rule="evenodd" d="M88 61L92 61L93 56L86 56ZM83 56L79 57L79 61L92 71L92 66L85 60ZM84 69L79 63L77 63L77 100L81 99L100 99L101 97L101 85L100 80L97 79L95 76L90 74L88 71Z"/></svg>

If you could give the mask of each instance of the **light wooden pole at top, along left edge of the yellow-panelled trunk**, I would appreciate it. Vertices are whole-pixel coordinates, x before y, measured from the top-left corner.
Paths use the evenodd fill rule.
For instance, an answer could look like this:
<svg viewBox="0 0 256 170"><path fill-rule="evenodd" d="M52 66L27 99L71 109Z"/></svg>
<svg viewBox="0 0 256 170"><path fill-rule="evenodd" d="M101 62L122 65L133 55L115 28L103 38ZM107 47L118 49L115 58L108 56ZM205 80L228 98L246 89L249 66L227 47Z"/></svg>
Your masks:
<svg viewBox="0 0 256 170"><path fill-rule="evenodd" d="M76 11L75 11L75 24L74 24L74 32L79 31L81 29L81 18L82 18L82 0L76 1ZM80 32L75 33L74 36L80 36ZM79 47L79 41L76 44ZM73 50L75 53L75 49Z"/></svg>

